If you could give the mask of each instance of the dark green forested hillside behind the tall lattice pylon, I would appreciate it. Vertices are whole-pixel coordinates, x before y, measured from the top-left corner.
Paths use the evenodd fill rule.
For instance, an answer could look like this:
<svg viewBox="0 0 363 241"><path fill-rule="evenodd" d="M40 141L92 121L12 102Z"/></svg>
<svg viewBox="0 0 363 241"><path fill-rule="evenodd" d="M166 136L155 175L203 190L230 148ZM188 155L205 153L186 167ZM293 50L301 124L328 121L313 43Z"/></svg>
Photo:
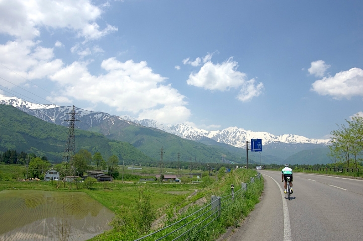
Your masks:
<svg viewBox="0 0 363 241"><path fill-rule="evenodd" d="M47 123L15 107L0 105L0 151L16 150L46 156L54 163L62 161L68 128ZM76 152L87 149L104 158L117 155L120 161L153 162L152 158L127 142L107 139L104 135L75 129Z"/></svg>

